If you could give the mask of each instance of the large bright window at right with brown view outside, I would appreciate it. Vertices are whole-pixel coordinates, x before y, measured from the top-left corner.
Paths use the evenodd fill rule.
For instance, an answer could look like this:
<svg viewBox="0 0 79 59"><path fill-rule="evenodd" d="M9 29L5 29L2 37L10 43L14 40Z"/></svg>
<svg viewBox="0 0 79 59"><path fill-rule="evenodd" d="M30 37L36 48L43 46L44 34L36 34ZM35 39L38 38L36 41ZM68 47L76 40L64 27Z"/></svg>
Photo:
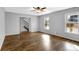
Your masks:
<svg viewBox="0 0 79 59"><path fill-rule="evenodd" d="M79 14L67 14L66 15L66 32L79 34Z"/></svg>

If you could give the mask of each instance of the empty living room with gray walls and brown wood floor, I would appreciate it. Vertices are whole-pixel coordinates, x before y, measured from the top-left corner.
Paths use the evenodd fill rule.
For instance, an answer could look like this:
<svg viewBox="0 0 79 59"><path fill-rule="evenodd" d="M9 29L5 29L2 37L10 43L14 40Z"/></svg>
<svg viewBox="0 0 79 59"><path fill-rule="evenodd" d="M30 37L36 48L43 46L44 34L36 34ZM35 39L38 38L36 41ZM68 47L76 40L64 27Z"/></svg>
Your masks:
<svg viewBox="0 0 79 59"><path fill-rule="evenodd" d="M79 51L79 7L0 7L0 51Z"/></svg>

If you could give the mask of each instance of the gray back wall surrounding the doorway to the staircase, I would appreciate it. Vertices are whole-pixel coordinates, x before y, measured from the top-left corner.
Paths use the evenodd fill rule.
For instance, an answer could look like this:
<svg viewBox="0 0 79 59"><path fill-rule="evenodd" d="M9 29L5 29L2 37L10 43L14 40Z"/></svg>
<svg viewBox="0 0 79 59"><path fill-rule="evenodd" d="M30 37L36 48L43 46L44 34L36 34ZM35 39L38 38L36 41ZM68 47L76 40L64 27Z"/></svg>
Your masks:
<svg viewBox="0 0 79 59"><path fill-rule="evenodd" d="M20 33L20 17L31 18L31 20L29 22L30 23L30 32L37 31L38 24L37 24L36 16L6 12L6 14L5 14L6 35L14 35L14 34Z"/></svg>

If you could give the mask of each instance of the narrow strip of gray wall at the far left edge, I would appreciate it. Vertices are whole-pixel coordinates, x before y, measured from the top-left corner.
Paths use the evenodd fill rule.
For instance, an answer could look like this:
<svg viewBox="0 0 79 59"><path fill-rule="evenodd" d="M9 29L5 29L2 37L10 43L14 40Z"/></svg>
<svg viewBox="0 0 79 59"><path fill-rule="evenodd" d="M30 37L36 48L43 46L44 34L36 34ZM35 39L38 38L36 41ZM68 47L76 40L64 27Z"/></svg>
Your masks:
<svg viewBox="0 0 79 59"><path fill-rule="evenodd" d="M5 14L4 9L0 7L0 49L5 38Z"/></svg>

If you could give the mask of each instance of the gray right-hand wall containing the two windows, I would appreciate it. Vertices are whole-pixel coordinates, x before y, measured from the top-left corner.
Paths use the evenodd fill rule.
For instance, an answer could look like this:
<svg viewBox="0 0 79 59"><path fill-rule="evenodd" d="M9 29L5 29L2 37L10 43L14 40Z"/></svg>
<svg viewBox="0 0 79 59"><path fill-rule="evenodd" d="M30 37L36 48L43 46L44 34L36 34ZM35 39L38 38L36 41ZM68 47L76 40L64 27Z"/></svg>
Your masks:
<svg viewBox="0 0 79 59"><path fill-rule="evenodd" d="M79 8L74 7L74 8L70 8L70 9L66 9L66 10L62 10L62 11L58 11L58 12L53 12L51 14L40 16L39 17L40 31L79 41L79 34L72 34L72 33L65 32L65 14L70 13L70 12L71 13L72 12L79 12ZM46 17L46 16L49 16L49 18L50 18L50 21L49 21L50 22L50 24L49 24L50 30L44 29L44 17Z"/></svg>

